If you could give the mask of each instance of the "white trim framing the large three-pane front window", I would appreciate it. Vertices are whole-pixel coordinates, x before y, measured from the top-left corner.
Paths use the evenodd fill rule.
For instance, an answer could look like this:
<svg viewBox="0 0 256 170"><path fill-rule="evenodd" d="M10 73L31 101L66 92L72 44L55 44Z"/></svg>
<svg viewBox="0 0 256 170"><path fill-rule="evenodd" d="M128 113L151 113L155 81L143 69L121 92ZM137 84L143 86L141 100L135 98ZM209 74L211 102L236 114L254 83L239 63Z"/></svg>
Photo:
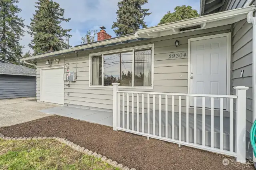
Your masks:
<svg viewBox="0 0 256 170"><path fill-rule="evenodd" d="M154 43L153 44L148 44L148 45L140 45L136 47L128 47L128 48L122 48L122 49L115 49L115 50L110 50L110 51L102 51L99 53L90 53L89 54L89 88L113 88L113 86L104 86L103 79L104 77L102 76L102 85L91 85L91 58L94 56L99 56L106 55L106 54L111 54L111 53L117 53L117 52L125 52L125 51L132 51L132 73L134 74L134 51L138 49L147 49L151 48L152 49L152 69L151 69L151 87L142 87L142 86L133 86L134 85L134 76L132 76L132 87L128 86L119 86L119 88L122 89L154 89ZM102 73L104 72L104 65L103 65L103 59L102 59Z"/></svg>

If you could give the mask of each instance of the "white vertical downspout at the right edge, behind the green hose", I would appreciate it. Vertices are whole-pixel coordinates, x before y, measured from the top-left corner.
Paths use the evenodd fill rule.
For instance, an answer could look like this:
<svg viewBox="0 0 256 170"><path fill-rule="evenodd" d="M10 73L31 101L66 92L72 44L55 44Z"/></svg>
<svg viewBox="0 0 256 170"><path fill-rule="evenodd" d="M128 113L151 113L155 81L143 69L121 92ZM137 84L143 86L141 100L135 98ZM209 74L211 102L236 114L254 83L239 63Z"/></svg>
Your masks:
<svg viewBox="0 0 256 170"><path fill-rule="evenodd" d="M254 0L248 0L244 7L250 6ZM247 22L252 23L252 113L253 122L256 120L256 17L253 16L254 12L247 14ZM256 158L253 155L253 162L256 162ZM254 164L255 165L255 164Z"/></svg>

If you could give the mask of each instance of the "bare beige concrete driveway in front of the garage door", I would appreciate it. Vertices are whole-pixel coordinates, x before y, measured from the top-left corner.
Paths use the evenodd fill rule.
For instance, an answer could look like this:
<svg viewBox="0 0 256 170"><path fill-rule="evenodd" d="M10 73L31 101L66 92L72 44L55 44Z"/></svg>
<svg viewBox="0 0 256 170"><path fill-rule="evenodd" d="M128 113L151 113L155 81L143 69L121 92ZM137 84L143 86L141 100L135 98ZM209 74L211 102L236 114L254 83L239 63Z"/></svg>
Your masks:
<svg viewBox="0 0 256 170"><path fill-rule="evenodd" d="M60 105L37 102L34 97L0 100L0 127L24 123L49 114L39 110L58 107Z"/></svg>

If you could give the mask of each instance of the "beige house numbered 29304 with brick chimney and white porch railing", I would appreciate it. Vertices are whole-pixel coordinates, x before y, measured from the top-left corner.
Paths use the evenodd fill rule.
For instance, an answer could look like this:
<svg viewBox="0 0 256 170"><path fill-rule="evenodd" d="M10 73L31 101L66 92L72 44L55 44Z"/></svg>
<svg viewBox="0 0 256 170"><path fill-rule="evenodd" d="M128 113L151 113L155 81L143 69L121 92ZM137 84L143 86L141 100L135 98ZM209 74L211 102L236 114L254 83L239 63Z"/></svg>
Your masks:
<svg viewBox="0 0 256 170"><path fill-rule="evenodd" d="M23 60L37 61L38 102L111 111L114 130L245 162L256 117L254 10L254 0L202 0L200 17L115 38L101 30L97 42Z"/></svg>

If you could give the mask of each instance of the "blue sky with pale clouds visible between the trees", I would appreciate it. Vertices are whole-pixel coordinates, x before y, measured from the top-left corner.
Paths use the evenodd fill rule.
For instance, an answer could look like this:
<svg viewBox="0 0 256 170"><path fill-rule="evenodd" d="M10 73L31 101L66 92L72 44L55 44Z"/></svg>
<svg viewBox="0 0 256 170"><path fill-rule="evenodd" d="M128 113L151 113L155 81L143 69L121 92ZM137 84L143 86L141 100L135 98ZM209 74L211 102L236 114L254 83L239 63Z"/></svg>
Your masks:
<svg viewBox="0 0 256 170"><path fill-rule="evenodd" d="M20 16L25 20L24 24L30 24L30 18L34 13L34 5L37 0L20 0L19 8L22 8ZM118 0L55 0L60 7L65 10L64 17L71 18L70 22L63 22L61 25L65 29L72 28L70 45L79 45L81 37L88 30L100 30L100 26L105 26L106 32L115 37L111 29L112 24L116 21L116 10L118 9ZM152 14L146 16L145 21L148 26L155 26L169 10L174 11L176 6L190 5L199 12L200 0L149 0L143 8L149 8ZM25 34L20 41L24 45L23 52L28 51L28 43L31 37Z"/></svg>

